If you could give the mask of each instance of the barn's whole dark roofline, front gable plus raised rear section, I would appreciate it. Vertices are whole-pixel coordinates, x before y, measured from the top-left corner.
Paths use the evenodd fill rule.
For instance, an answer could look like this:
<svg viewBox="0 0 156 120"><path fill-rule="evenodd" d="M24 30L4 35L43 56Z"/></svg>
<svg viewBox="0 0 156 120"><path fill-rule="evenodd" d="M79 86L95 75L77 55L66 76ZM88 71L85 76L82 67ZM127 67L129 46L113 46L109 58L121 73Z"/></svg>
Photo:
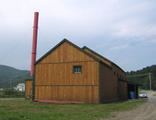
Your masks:
<svg viewBox="0 0 156 120"><path fill-rule="evenodd" d="M73 44L72 42L70 42L67 39L63 39L60 43L58 43L55 47L53 47L52 49L50 49L45 55L43 55L41 58L39 58L36 61L36 64L38 64L40 61L42 61L45 57L47 57L51 52L53 52L57 47L59 47L60 45L62 45L64 42L68 42L70 45L72 45L73 47L75 47L76 49L80 50L81 52L85 53L86 55L90 56L91 58L93 58L94 60L96 60L97 62L101 62L105 65L107 65L108 67L112 68L112 65L115 65L116 67L118 67L120 70L122 70L119 66L117 66L115 63L113 63L112 61L108 60L107 58L103 57L102 55L98 54L97 52L91 50L90 48L84 46L83 48L80 48L79 46ZM89 51L89 52L88 52ZM122 70L124 72L124 70Z"/></svg>

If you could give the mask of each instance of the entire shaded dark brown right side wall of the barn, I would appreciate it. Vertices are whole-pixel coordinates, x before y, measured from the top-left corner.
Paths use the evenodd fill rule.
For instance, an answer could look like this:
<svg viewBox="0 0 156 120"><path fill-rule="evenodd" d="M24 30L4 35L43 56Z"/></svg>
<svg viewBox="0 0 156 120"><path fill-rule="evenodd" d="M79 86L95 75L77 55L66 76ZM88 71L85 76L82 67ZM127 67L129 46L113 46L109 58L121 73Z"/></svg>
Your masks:
<svg viewBox="0 0 156 120"><path fill-rule="evenodd" d="M109 102L127 99L127 81L123 71L100 64L100 100Z"/></svg>

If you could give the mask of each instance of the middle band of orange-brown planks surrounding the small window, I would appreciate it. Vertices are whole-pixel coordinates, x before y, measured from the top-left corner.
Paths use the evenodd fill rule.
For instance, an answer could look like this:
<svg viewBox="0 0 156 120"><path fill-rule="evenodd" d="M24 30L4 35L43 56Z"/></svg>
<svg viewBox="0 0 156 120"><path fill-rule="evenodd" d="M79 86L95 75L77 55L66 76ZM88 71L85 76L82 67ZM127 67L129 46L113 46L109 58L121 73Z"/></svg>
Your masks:
<svg viewBox="0 0 156 120"><path fill-rule="evenodd" d="M82 65L82 73L74 74L74 65ZM94 85L98 84L96 62L77 62L61 64L39 64L36 67L36 84L74 84ZM87 72L86 72L87 71Z"/></svg>

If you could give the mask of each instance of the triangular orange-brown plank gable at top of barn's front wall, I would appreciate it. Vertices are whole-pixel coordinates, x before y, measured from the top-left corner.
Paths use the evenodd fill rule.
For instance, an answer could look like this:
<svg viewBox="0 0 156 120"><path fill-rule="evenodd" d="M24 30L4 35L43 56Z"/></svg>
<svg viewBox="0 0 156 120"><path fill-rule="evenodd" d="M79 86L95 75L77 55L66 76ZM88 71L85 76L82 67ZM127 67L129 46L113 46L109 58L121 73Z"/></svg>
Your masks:
<svg viewBox="0 0 156 120"><path fill-rule="evenodd" d="M84 52L70 45L68 42L61 44L56 50L45 57L40 63L60 63L60 62L77 62L77 61L94 61Z"/></svg>

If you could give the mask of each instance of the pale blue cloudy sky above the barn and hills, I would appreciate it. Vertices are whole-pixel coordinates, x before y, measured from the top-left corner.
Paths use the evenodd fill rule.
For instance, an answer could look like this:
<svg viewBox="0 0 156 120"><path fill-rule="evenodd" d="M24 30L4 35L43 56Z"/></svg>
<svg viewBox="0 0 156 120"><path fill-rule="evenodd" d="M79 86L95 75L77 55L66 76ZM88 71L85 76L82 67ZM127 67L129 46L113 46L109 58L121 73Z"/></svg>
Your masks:
<svg viewBox="0 0 156 120"><path fill-rule="evenodd" d="M62 39L131 71L156 64L156 0L0 0L0 64L30 69L33 14L37 58Z"/></svg>

